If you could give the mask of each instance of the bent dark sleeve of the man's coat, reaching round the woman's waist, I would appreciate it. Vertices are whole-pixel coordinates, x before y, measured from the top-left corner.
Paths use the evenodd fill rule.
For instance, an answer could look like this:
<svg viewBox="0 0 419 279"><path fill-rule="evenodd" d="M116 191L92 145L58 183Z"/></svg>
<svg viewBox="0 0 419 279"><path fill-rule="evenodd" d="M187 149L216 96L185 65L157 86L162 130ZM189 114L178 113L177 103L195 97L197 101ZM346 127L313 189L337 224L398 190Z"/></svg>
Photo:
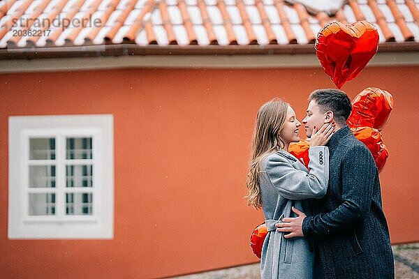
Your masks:
<svg viewBox="0 0 419 279"><path fill-rule="evenodd" d="M321 236L357 227L369 211L376 178L374 158L366 146L348 149L342 162L341 204L328 213L304 218L304 236Z"/></svg>

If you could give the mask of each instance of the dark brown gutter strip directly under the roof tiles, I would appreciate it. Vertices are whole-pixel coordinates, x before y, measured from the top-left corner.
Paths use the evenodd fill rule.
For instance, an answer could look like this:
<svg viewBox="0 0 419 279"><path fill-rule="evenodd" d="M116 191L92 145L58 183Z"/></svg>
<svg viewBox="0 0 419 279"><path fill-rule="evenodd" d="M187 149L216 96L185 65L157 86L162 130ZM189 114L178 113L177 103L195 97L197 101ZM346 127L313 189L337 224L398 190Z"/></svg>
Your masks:
<svg viewBox="0 0 419 279"><path fill-rule="evenodd" d="M419 42L381 43L378 52L418 52ZM69 57L130 56L130 55L266 55L314 54L314 44L306 45L89 45L68 47L15 48L0 50L0 60L48 59Z"/></svg>

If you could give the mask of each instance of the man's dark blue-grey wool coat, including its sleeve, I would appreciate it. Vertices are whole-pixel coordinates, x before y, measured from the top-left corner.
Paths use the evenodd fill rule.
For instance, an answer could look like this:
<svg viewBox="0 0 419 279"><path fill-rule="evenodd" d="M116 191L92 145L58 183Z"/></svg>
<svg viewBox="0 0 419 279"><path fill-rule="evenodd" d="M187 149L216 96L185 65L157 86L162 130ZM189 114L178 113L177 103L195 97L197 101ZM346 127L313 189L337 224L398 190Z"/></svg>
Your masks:
<svg viewBox="0 0 419 279"><path fill-rule="evenodd" d="M304 236L314 237L325 278L394 278L378 169L371 152L348 126L332 135L328 147L328 193L312 201L313 216L302 223Z"/></svg>

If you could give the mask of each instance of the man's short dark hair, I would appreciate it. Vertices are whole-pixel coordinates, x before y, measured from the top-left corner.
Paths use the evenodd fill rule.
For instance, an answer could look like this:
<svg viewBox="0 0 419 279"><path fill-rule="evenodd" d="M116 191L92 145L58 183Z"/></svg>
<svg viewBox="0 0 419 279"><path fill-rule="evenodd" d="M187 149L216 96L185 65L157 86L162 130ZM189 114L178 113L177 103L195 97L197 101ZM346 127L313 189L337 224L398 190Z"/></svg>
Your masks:
<svg viewBox="0 0 419 279"><path fill-rule="evenodd" d="M311 92L309 101L316 100L318 107L323 112L331 110L335 115L335 121L346 124L352 111L351 100L344 91L338 89L317 89Z"/></svg>

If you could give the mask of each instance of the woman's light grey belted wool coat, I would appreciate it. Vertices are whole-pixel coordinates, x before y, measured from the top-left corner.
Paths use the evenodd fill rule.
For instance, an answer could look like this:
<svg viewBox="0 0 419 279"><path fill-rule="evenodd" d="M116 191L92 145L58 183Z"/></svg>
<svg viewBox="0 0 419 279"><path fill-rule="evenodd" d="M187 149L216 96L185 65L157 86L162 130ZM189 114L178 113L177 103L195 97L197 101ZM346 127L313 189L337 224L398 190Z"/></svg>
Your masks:
<svg viewBox="0 0 419 279"><path fill-rule="evenodd" d="M313 278L314 250L307 238L285 239L275 224L294 217L291 206L309 215L307 199L323 197L328 188L329 151L326 146L309 149L309 169L295 156L280 150L260 165L260 193L267 236L260 259L262 279Z"/></svg>

